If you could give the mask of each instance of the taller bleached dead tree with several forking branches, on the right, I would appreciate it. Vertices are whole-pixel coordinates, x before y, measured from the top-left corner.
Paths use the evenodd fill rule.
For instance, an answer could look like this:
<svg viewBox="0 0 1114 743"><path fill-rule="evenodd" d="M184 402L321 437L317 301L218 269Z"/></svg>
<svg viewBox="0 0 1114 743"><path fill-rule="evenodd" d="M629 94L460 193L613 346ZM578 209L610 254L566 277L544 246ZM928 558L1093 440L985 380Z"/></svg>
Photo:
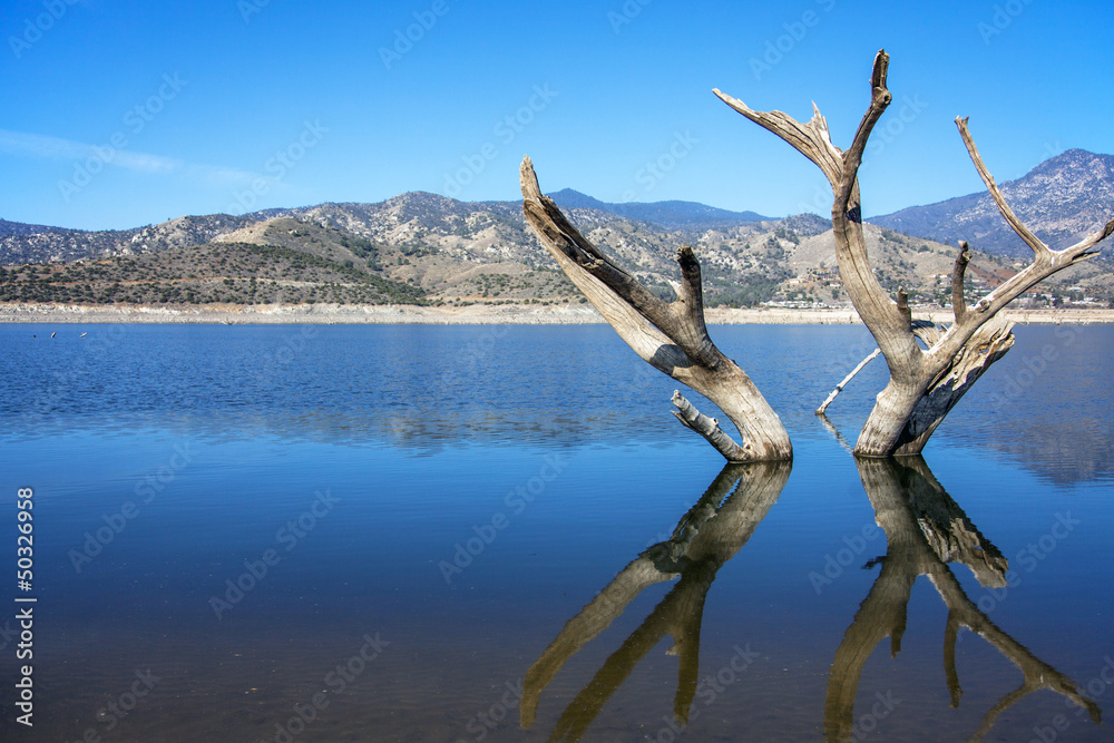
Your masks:
<svg viewBox="0 0 1114 743"><path fill-rule="evenodd" d="M902 291L897 301L878 283L862 235L858 172L867 139L889 106L886 87L889 55L879 51L871 76L871 99L850 149L831 143L828 121L813 105L812 118L801 124L781 111L755 111L743 101L714 90L724 102L759 126L774 133L815 164L832 187L832 232L836 258L851 303L878 342L890 369L890 381L878 394L874 409L859 436L854 453L864 457L919 453L944 417L971 384L1001 358L1014 343L1010 325L995 317L1007 303L1051 274L1094 253L1100 241L1114 232L1114 219L1097 233L1062 251L1042 243L1014 215L994 178L979 157L967 130L967 119L956 119L967 151L990 192L998 211L1010 227L1033 248L1033 263L967 307L962 292L957 292L956 322L921 349L911 323L908 301ZM962 286L967 262L956 262L952 286ZM924 336L922 336L924 338Z"/></svg>

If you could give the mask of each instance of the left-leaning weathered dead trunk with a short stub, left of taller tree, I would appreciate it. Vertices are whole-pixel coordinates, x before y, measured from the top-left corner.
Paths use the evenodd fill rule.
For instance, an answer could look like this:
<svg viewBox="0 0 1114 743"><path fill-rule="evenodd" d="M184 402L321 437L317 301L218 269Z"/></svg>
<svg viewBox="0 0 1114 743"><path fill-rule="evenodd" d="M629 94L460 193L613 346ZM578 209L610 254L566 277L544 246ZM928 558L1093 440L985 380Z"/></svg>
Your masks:
<svg viewBox="0 0 1114 743"><path fill-rule="evenodd" d="M522 212L557 264L644 361L714 402L739 429L735 442L719 422L674 393L676 416L727 461L793 457L789 433L750 377L709 338L700 263L690 246L677 251L677 299L665 302L612 262L541 193L530 158L520 172Z"/></svg>

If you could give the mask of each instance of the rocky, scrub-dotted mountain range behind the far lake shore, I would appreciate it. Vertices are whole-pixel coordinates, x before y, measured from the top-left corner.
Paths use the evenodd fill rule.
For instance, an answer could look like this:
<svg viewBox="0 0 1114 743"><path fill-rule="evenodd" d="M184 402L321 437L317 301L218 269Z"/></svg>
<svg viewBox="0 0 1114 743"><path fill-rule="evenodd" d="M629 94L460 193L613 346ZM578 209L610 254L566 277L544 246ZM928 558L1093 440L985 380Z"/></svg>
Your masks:
<svg viewBox="0 0 1114 743"><path fill-rule="evenodd" d="M1001 187L1034 232L1063 247L1114 216L1114 157L1068 150ZM609 204L571 189L551 196L585 236L663 296L672 294L673 254L687 243L701 258L711 304L847 304L830 222L817 215L771 218L680 201ZM1007 278L1028 252L986 194L871 222L866 233L879 280L921 303L949 296L959 239L979 251L968 272L973 292ZM520 202L428 193L185 216L123 231L0 219L0 265L8 266L0 268L0 301L17 302L579 300L529 232ZM1098 260L1073 267L1030 301L1096 297L1105 304L1114 299L1111 265Z"/></svg>

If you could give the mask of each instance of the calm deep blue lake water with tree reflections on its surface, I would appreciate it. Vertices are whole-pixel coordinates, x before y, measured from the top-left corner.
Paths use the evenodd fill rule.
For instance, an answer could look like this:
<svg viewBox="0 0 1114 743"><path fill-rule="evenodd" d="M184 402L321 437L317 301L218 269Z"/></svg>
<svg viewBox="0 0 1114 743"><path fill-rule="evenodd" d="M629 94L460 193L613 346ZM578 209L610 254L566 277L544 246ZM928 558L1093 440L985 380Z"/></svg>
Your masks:
<svg viewBox="0 0 1114 743"><path fill-rule="evenodd" d="M0 326L6 740L1111 740L1114 327L859 463L864 329L712 335L792 466L608 326Z"/></svg>

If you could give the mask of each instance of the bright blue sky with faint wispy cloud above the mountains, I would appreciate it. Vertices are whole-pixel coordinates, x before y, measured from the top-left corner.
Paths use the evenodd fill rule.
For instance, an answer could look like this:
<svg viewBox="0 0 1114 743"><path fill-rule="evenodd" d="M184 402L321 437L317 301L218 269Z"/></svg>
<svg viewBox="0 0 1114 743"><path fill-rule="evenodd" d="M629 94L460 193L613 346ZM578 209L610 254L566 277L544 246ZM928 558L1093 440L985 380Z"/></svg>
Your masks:
<svg viewBox="0 0 1114 743"><path fill-rule="evenodd" d="M6 219L516 199L524 154L545 190L824 214L819 170L711 90L798 118L814 100L846 147L879 48L868 216L981 188L956 116L999 182L1114 153L1105 1L70 2L2 3Z"/></svg>

